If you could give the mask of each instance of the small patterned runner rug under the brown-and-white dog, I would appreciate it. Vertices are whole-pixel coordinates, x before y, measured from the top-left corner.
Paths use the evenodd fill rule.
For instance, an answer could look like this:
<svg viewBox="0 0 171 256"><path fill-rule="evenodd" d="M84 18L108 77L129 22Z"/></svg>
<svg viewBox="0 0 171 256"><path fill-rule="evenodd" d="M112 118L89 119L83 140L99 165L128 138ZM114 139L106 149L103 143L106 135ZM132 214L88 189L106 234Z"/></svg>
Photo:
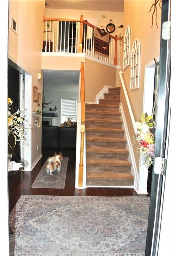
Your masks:
<svg viewBox="0 0 171 256"><path fill-rule="evenodd" d="M48 159L47 159L48 160ZM36 177L32 188L64 188L65 179L67 173L69 157L64 157L64 160L61 162L61 170L57 170L48 175L46 172L46 162L40 170L38 176Z"/></svg>

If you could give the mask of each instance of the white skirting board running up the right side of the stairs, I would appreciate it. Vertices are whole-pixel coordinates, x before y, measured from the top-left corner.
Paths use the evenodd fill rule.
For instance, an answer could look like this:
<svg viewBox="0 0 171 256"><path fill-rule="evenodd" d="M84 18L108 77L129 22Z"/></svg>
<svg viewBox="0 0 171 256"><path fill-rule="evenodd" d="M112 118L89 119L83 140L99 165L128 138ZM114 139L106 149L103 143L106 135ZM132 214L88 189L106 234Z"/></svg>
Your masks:
<svg viewBox="0 0 171 256"><path fill-rule="evenodd" d="M126 118L125 118L125 114L124 114L124 110L123 110L123 105L122 103L120 103L120 112L121 112L121 118L123 121L123 129L125 130L125 136L126 136L126 140L127 140L127 147L129 150L129 161L131 162L132 166L131 166L131 174L134 176L134 189L137 191L137 187L138 187L138 172L137 172L137 167L136 167L136 162L135 162L135 157L134 157L134 152L133 152L133 148L132 148L132 143L131 143L131 139L129 136L129 130L128 130L128 126L126 123Z"/></svg>

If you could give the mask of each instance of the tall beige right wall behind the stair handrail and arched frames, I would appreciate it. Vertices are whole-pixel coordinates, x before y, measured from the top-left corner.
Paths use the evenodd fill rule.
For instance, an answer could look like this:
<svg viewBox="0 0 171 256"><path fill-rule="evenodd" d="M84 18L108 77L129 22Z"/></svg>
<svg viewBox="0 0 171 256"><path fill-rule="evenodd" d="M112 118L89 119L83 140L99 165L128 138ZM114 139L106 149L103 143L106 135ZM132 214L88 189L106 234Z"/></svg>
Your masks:
<svg viewBox="0 0 171 256"><path fill-rule="evenodd" d="M131 28L131 43L135 38L139 38L141 44L141 57L140 57L140 83L139 88L130 90L130 65L123 70L123 79L126 86L128 98L132 107L133 115L135 121L139 121L142 111L143 111L143 93L144 93L144 70L145 65L151 62L154 58L159 56L160 51L160 23L161 23L161 9L157 7L157 24L158 29L155 25L155 18L153 22L153 28L151 28L152 23L152 12L149 12L151 5L154 1L124 1L124 27L130 25ZM130 48L131 49L131 48ZM130 51L131 52L131 51ZM124 106L124 112L126 121L128 124L128 129L130 133L130 138L133 144L133 127L130 122L130 117L127 109L127 104L125 102L123 91L121 90L121 102ZM152 113L148 113L151 115ZM136 147L134 149L134 155L136 158L137 169L139 169L139 154L136 153Z"/></svg>

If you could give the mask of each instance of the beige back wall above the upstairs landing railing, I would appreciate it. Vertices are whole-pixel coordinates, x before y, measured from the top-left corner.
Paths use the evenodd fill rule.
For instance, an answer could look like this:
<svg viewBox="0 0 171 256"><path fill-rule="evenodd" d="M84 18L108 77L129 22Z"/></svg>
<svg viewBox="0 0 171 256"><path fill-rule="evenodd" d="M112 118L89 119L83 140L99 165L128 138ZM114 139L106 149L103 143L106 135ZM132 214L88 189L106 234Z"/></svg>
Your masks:
<svg viewBox="0 0 171 256"><path fill-rule="evenodd" d="M106 29L106 25L111 23L115 25L115 31L112 35L123 35L123 28L117 28L123 24L123 12L106 12L106 11L90 11L90 10L69 10L69 9L45 9L46 18L70 18L70 19L80 19L80 15L83 15L84 19L98 19L98 27L103 26ZM102 18L105 15L106 18Z"/></svg>

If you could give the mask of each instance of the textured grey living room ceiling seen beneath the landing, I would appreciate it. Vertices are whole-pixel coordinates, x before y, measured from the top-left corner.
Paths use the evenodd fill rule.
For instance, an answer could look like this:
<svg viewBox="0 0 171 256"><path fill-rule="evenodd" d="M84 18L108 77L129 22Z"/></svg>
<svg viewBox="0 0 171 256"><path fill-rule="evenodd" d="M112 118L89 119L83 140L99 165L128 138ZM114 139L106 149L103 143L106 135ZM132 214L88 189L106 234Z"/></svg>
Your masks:
<svg viewBox="0 0 171 256"><path fill-rule="evenodd" d="M43 70L43 90L78 92L79 70Z"/></svg>

